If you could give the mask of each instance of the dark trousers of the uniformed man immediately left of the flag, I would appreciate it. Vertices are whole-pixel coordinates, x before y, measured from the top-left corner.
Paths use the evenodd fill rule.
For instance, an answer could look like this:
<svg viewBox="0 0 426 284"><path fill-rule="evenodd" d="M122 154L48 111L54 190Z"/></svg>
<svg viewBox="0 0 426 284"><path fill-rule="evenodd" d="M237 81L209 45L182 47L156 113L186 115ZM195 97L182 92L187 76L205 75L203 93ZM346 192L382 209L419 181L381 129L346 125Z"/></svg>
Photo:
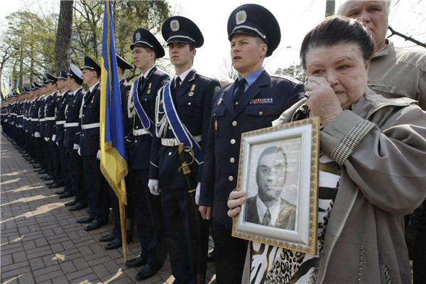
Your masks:
<svg viewBox="0 0 426 284"><path fill-rule="evenodd" d="M107 180L102 175L100 161L96 155L83 156L83 170L90 217L101 224L106 224L109 215Z"/></svg>

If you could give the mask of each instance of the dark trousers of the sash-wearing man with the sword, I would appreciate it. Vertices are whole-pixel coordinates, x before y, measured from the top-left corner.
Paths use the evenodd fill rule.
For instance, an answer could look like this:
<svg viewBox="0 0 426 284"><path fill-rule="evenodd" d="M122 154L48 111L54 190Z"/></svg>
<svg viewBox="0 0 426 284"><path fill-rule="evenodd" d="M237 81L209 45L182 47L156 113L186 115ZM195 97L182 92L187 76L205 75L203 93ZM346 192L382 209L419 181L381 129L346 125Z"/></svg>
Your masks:
<svg viewBox="0 0 426 284"><path fill-rule="evenodd" d="M196 283L197 225L187 189L163 189L161 207L175 283Z"/></svg>

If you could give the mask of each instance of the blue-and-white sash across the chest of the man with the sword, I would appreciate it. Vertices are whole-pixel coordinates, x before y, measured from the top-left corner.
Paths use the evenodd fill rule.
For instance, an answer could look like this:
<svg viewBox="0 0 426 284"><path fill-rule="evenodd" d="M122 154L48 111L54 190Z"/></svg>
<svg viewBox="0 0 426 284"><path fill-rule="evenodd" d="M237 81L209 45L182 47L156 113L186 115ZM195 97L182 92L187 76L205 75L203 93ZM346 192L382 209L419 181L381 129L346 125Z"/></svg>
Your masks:
<svg viewBox="0 0 426 284"><path fill-rule="evenodd" d="M191 147L195 154L195 161L200 163L201 147L178 116L175 104L173 104L172 93L170 92L170 82L168 82L164 87L163 109L168 123L175 134L175 138L178 139L179 143L184 143L185 146Z"/></svg>

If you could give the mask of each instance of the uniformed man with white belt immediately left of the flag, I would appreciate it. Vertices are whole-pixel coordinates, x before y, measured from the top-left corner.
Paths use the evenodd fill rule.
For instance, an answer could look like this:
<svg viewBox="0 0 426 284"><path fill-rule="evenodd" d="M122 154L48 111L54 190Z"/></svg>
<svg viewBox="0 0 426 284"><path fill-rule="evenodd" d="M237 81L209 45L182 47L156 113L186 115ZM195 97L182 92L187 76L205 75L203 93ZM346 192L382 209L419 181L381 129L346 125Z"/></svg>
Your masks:
<svg viewBox="0 0 426 284"><path fill-rule="evenodd" d="M80 109L81 119L77 129L75 143L80 146L78 153L83 157L84 184L90 214L77 219L78 223L90 223L84 230L90 231L107 224L109 215L109 195L107 180L100 168L101 150L99 145L99 114L101 102L101 85L99 77L101 67L89 56L84 56L82 79L89 86L84 94Z"/></svg>

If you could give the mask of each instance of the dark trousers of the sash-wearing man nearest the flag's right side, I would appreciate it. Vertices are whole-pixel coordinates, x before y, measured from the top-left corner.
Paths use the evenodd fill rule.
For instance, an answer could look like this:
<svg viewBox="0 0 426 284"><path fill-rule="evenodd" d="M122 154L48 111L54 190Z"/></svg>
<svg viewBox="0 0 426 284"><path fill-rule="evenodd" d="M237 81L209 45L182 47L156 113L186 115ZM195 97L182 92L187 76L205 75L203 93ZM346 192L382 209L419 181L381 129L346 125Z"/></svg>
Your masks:
<svg viewBox="0 0 426 284"><path fill-rule="evenodd" d="M141 243L141 256L153 268L163 266L167 257L167 244L164 236L163 213L160 195L151 195L148 188L148 170L130 170L128 201Z"/></svg>

